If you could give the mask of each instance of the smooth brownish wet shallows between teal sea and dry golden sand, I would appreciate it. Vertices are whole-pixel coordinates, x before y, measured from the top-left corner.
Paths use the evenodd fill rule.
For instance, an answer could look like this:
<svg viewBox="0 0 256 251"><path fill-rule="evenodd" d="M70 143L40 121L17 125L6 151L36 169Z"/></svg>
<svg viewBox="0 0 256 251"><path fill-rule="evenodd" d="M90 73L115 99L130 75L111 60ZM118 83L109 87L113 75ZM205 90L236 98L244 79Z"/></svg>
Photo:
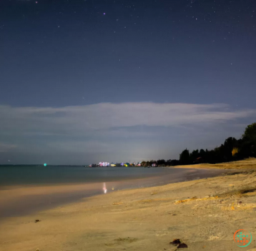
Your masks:
<svg viewBox="0 0 256 251"><path fill-rule="evenodd" d="M177 170L177 169L176 169ZM235 172L236 170L232 170ZM187 169L182 172L170 172L137 179L106 182L107 193L116 190L139 189L140 187L158 187L185 180L198 180L215 177L227 171L209 169ZM6 217L18 217L34 214L42 210L79 202L79 200L103 194L103 182L82 184L39 184L11 185L0 190L0 220Z"/></svg>

